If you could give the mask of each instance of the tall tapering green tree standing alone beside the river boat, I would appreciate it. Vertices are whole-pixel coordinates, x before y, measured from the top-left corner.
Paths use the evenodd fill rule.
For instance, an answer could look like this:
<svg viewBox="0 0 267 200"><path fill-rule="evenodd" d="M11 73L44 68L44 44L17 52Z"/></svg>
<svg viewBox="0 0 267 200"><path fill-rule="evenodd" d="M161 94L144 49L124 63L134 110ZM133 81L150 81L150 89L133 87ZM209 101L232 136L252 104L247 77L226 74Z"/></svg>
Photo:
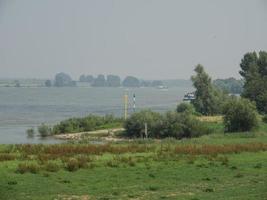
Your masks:
<svg viewBox="0 0 267 200"><path fill-rule="evenodd" d="M203 115L220 113L224 95L213 87L211 78L202 65L197 65L195 72L196 75L192 76L191 80L196 88L195 99L192 101L196 111Z"/></svg>

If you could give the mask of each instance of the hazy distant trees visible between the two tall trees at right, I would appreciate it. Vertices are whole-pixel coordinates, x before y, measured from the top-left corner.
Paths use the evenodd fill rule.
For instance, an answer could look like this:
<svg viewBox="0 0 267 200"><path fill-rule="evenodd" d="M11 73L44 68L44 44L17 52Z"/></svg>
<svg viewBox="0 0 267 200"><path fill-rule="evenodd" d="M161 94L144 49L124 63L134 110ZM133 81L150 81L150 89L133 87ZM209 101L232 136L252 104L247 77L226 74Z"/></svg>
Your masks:
<svg viewBox="0 0 267 200"><path fill-rule="evenodd" d="M223 91L231 94L241 94L243 91L244 82L235 78L216 79L213 84Z"/></svg>

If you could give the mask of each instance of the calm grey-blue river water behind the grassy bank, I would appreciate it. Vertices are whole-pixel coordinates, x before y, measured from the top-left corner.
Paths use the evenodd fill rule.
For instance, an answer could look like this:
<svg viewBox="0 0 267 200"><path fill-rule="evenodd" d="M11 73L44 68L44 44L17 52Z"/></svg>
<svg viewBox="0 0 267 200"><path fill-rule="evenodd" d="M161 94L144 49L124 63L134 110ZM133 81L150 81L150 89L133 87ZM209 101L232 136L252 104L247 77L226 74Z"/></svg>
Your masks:
<svg viewBox="0 0 267 200"><path fill-rule="evenodd" d="M188 87L168 90L156 88L129 89L129 112L136 95L137 110L175 109ZM88 114L123 115L125 88L0 88L0 143L56 143L52 138L27 138L26 129L41 123L55 124L69 117Z"/></svg>

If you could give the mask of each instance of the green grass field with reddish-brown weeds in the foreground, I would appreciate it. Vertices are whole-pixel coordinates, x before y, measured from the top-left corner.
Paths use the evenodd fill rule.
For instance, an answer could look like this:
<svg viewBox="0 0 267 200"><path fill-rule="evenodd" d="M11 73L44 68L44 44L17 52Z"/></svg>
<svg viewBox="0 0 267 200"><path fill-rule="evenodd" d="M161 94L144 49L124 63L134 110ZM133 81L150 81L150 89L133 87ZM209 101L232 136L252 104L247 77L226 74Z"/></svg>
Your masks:
<svg viewBox="0 0 267 200"><path fill-rule="evenodd" d="M267 125L104 145L1 145L0 199L267 199Z"/></svg>

